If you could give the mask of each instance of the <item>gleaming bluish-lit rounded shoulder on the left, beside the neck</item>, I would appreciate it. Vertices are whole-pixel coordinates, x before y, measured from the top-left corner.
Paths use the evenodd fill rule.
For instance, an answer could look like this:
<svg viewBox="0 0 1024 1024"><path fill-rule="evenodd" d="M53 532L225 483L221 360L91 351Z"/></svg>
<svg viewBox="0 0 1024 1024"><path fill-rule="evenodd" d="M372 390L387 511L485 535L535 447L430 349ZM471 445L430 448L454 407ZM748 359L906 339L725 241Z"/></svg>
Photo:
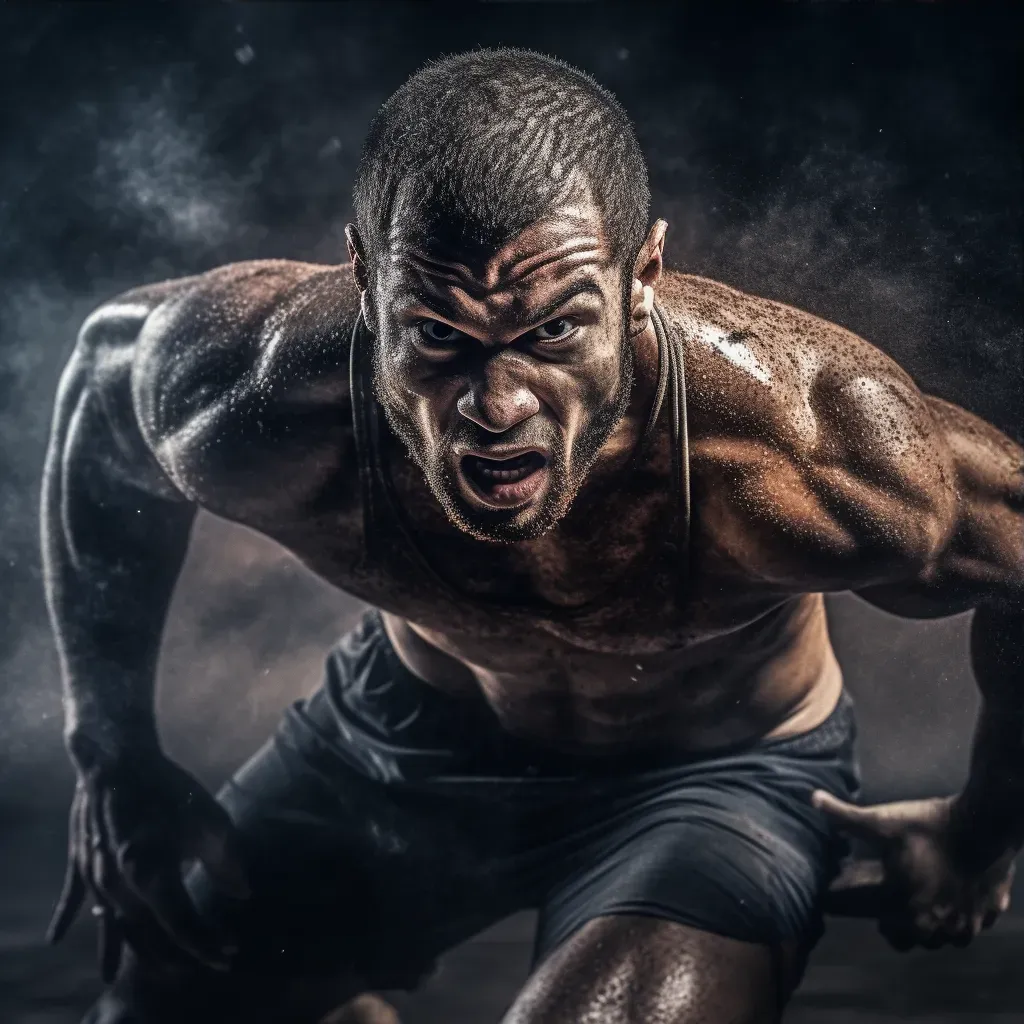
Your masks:
<svg viewBox="0 0 1024 1024"><path fill-rule="evenodd" d="M216 504L257 468L315 483L289 442L310 458L337 442L357 310L347 265L233 263L103 303L76 358L175 485Z"/></svg>

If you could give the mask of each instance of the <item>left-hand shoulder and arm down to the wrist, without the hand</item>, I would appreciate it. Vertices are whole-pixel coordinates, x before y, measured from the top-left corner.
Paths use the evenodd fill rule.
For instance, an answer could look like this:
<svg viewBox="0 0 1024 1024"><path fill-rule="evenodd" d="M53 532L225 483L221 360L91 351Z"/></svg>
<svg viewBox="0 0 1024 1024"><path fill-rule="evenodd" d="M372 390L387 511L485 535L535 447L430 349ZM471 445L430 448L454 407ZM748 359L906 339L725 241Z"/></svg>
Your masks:
<svg viewBox="0 0 1024 1024"><path fill-rule="evenodd" d="M42 511L73 757L157 741L158 650L197 506L255 525L337 478L347 276L234 264L128 293L83 326Z"/></svg>

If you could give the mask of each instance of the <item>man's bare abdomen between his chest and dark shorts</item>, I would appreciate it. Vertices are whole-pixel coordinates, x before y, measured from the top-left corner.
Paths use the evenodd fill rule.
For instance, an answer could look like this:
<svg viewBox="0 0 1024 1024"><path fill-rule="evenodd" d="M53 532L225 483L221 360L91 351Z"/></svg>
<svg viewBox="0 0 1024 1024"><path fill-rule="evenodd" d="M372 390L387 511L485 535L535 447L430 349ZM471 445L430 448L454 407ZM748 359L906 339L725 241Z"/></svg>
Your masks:
<svg viewBox="0 0 1024 1024"><path fill-rule="evenodd" d="M587 650L540 627L481 644L457 629L428 630L388 612L383 620L401 662L427 684L485 700L515 735L595 756L798 735L828 717L843 688L820 594L653 655Z"/></svg>

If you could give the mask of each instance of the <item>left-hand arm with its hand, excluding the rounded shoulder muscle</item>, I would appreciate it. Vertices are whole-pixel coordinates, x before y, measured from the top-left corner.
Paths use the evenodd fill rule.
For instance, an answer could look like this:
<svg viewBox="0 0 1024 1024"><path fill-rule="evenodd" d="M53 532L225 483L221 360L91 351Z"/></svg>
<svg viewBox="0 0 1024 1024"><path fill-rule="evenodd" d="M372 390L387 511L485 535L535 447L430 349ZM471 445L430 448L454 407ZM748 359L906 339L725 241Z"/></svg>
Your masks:
<svg viewBox="0 0 1024 1024"><path fill-rule="evenodd" d="M78 776L50 937L91 895L105 980L123 932L222 958L182 887L184 857L242 884L226 814L163 756L154 714L164 618L196 509L143 437L133 385L138 339L171 288L132 293L86 321L60 380L43 480L44 584Z"/></svg>

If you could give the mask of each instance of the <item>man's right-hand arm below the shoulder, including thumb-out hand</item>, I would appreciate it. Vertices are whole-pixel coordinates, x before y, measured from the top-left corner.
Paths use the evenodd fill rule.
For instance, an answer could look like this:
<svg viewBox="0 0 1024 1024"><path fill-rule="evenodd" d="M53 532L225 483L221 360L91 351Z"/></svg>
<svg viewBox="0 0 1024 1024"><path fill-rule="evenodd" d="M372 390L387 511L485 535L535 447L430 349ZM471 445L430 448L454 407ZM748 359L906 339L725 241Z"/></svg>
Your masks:
<svg viewBox="0 0 1024 1024"><path fill-rule="evenodd" d="M877 807L813 798L882 855L880 929L901 949L965 945L991 926L1010 904L1024 840L1024 452L963 410L925 401L931 442L918 455L939 472L925 474L934 498L922 506L926 492L915 488L916 508L905 514L927 516L923 536L936 543L908 552L902 572L893 565L856 591L909 617L975 609L982 709L970 775L953 798Z"/></svg>

